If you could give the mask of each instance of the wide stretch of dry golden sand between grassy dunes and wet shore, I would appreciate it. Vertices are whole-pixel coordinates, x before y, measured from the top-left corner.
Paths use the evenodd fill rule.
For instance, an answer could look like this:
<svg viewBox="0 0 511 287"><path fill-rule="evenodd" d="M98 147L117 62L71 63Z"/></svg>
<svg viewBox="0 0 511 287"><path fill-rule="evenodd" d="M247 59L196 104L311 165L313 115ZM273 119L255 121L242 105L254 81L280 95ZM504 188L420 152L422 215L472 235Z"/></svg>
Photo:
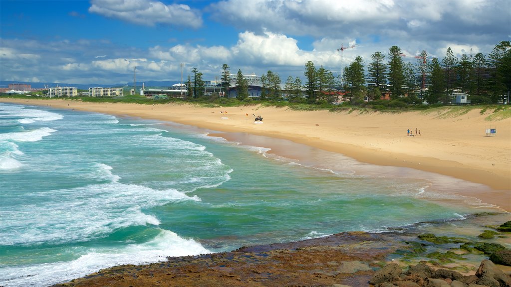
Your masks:
<svg viewBox="0 0 511 287"><path fill-rule="evenodd" d="M476 197L511 211L511 118L487 121L493 110L464 114L446 109L381 113L359 111L293 111L244 106L204 108L191 104L86 103L76 100L8 99L28 105L96 111L161 119L224 132L242 132L289 139L344 154L361 162L402 166L485 184L492 190ZM263 124L253 116L262 115ZM495 136L485 129L496 128ZM407 136L407 129L421 136Z"/></svg>

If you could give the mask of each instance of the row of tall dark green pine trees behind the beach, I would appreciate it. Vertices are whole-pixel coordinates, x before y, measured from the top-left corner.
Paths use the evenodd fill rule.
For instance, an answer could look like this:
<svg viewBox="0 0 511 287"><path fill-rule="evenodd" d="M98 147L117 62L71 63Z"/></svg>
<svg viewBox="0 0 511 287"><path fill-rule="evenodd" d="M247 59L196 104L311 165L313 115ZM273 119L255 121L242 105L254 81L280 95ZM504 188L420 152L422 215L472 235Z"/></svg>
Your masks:
<svg viewBox="0 0 511 287"><path fill-rule="evenodd" d="M391 46L388 53L375 52L367 68L364 59L357 56L353 62L334 76L322 65L316 68L312 61L305 64L305 83L299 77L289 76L282 85L282 79L271 70L261 75L260 100L286 98L291 102L331 103L343 91L345 101L357 105L364 99L375 101L388 94L391 100L406 98L406 103L448 104L452 93L471 95L472 104L496 104L505 101L511 90L511 42L500 41L492 52L454 56L449 47L442 59L430 57L422 51L415 64L405 62L398 46ZM341 76L342 75L342 76ZM230 87L230 67L222 65L221 87ZM241 69L235 78L237 99L248 98L248 83ZM188 95L193 98L204 96L202 73L192 69L192 78L186 82Z"/></svg>

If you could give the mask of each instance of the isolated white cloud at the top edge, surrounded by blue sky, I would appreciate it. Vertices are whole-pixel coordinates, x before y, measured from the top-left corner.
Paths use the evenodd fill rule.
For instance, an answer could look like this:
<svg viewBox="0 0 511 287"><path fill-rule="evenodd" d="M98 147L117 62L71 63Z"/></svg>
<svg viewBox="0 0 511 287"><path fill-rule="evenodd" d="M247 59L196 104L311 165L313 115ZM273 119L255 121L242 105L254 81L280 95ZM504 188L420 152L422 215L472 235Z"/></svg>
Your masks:
<svg viewBox="0 0 511 287"><path fill-rule="evenodd" d="M137 25L168 25L199 28L202 18L199 11L188 5L165 5L156 1L92 0L90 13L116 18Z"/></svg>

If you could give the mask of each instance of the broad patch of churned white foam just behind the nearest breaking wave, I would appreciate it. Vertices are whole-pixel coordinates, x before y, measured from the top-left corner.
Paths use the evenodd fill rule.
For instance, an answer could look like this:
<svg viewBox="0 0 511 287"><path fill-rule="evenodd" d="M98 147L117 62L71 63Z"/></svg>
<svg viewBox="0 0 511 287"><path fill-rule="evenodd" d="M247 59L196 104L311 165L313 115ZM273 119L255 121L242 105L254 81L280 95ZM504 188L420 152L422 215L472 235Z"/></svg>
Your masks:
<svg viewBox="0 0 511 287"><path fill-rule="evenodd" d="M157 190L146 186L111 182L37 195L44 205L25 204L4 208L4 244L32 245L93 240L119 228L159 225L159 220L142 208L169 202L200 201L175 189Z"/></svg>

